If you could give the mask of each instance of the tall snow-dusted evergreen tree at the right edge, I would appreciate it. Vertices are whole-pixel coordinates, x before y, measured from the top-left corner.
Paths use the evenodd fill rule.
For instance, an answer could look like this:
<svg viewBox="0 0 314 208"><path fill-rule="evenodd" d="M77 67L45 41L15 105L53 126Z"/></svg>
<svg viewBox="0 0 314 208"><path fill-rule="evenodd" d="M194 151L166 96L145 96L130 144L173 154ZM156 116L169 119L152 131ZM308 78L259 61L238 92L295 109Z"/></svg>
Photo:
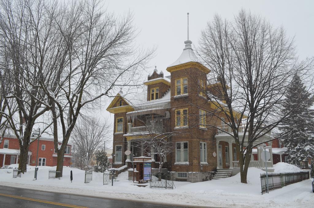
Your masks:
<svg viewBox="0 0 314 208"><path fill-rule="evenodd" d="M289 154L288 162L300 164L304 161L308 169L308 159L314 156L314 110L311 109L314 97L310 96L299 75L295 75L285 96L287 102L282 111L292 110L284 122L286 132L282 135Z"/></svg>

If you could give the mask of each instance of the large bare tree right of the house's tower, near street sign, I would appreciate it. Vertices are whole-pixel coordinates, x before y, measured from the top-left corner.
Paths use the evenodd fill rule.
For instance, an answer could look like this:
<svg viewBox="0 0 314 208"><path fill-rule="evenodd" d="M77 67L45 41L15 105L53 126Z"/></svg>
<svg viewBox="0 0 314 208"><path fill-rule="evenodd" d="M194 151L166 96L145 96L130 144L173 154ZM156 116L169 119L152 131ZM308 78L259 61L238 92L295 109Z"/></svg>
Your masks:
<svg viewBox="0 0 314 208"><path fill-rule="evenodd" d="M246 183L252 148L265 142L262 137L275 139L271 133L291 116L280 112L287 86L295 74L312 67L313 59L298 64L285 30L243 9L232 22L215 15L202 32L198 54L211 69L210 88L200 88L214 106L206 117L221 120L226 128L207 126L234 138L241 183Z"/></svg>

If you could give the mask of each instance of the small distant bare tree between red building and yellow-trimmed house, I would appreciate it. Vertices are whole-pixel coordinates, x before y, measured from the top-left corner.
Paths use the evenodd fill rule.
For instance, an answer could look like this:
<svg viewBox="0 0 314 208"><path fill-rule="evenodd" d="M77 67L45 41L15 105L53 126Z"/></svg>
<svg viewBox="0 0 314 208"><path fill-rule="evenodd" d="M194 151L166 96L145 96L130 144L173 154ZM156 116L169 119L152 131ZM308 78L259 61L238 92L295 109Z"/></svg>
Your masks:
<svg viewBox="0 0 314 208"><path fill-rule="evenodd" d="M90 160L94 157L104 142L110 140L109 135L110 124L106 119L100 122L95 117L80 117L76 123L71 140L75 145L75 154L78 158L76 164L80 168L89 165Z"/></svg>

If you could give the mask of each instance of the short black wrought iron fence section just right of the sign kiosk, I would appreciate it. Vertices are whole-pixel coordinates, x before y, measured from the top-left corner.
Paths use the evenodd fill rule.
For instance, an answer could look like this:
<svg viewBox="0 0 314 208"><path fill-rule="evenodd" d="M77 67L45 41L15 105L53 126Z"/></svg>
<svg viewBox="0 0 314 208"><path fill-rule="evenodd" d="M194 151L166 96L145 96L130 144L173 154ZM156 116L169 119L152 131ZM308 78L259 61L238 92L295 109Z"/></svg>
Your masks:
<svg viewBox="0 0 314 208"><path fill-rule="evenodd" d="M151 174L149 178L149 188L151 189L173 189L175 187L173 173L161 173L161 176Z"/></svg>

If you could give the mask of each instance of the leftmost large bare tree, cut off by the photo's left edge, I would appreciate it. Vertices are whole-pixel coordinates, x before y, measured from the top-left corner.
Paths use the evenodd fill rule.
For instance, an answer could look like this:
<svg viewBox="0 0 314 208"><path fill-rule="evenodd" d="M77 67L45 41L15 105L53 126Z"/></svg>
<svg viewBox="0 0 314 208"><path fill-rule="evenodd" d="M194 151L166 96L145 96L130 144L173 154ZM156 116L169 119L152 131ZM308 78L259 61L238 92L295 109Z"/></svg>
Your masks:
<svg viewBox="0 0 314 208"><path fill-rule="evenodd" d="M33 126L50 108L41 86L54 84L51 77L63 57L63 39L53 21L54 2L2 0L0 4L1 68L8 73L1 88L10 88L2 95L6 109L0 114L19 140L19 169L24 173Z"/></svg>

